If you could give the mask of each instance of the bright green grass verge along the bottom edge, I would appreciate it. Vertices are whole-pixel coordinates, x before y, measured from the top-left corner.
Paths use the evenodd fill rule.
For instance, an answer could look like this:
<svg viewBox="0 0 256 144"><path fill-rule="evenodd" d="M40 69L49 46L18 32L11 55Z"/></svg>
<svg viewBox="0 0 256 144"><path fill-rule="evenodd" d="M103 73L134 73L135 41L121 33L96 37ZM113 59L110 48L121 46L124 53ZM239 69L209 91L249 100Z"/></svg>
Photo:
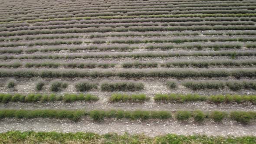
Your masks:
<svg viewBox="0 0 256 144"><path fill-rule="evenodd" d="M206 135L176 135L165 134L148 137L144 134L118 135L116 133L95 134L91 132L61 133L61 132L34 132L8 131L0 134L0 144L22 143L60 143L60 144L255 144L255 136L220 137Z"/></svg>

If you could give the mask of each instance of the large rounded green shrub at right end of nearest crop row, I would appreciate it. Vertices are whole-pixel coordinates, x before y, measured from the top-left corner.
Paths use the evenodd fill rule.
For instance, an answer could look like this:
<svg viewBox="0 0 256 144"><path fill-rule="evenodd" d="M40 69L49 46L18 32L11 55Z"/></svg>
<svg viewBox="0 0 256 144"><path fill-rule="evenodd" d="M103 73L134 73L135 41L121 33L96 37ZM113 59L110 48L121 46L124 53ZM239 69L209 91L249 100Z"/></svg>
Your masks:
<svg viewBox="0 0 256 144"><path fill-rule="evenodd" d="M230 118L242 124L248 124L253 119L253 115L245 111L232 111Z"/></svg>

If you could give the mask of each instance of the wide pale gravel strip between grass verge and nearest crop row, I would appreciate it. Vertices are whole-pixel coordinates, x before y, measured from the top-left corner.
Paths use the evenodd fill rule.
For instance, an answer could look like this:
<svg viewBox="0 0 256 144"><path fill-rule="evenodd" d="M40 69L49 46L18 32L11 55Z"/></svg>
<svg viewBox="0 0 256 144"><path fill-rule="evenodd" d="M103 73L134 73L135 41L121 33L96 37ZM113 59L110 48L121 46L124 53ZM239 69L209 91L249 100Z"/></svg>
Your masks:
<svg viewBox="0 0 256 144"><path fill-rule="evenodd" d="M57 131L57 132L95 132L105 134L116 132L122 134L128 132L130 134L144 133L148 136L156 136L159 134L205 134L205 135L221 135L221 136L245 136L256 135L256 127L252 125L237 124L235 121L224 120L223 123L215 123L206 120L203 124L197 124L193 121L178 122L170 120L148 120L148 121L129 121L127 119L116 120L107 119L98 123L90 120L90 118L82 118L80 122L58 119L16 119L6 118L0 121L0 132L11 130L19 131Z"/></svg>

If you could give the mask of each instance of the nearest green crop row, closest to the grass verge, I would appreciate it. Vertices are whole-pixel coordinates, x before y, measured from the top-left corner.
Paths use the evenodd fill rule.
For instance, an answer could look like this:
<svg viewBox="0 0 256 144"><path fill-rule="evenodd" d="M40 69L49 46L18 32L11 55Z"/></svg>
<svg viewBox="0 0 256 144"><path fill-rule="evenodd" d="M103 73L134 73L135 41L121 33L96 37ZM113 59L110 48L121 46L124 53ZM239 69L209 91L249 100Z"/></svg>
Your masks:
<svg viewBox="0 0 256 144"><path fill-rule="evenodd" d="M203 122L206 118L211 118L220 122L223 118L230 118L242 124L248 124L256 119L256 112L253 111L212 111L210 113L203 111L74 111L74 110L0 110L0 118L68 118L73 121L79 121L81 117L89 115L94 121L103 121L105 118L128 118L131 120L141 119L170 119L173 117L178 121L187 121L191 117L196 122Z"/></svg>

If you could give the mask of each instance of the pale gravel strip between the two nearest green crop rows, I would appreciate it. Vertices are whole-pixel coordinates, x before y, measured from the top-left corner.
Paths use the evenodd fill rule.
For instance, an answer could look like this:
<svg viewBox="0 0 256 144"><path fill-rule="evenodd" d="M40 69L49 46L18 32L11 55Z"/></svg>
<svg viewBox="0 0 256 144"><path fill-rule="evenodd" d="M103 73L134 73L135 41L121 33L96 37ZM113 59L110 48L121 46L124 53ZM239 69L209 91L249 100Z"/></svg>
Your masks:
<svg viewBox="0 0 256 144"><path fill-rule="evenodd" d="M256 111L256 105L251 103L230 103L230 104L212 104L206 101L185 102L185 103L155 103L148 101L145 103L109 103L105 99L98 102L81 102L75 101L72 103L65 103L61 101L46 102L46 103L20 103L10 102L7 104L0 104L0 109L123 109L125 111L144 110L144 111L178 111L178 110L203 110L203 111Z"/></svg>

